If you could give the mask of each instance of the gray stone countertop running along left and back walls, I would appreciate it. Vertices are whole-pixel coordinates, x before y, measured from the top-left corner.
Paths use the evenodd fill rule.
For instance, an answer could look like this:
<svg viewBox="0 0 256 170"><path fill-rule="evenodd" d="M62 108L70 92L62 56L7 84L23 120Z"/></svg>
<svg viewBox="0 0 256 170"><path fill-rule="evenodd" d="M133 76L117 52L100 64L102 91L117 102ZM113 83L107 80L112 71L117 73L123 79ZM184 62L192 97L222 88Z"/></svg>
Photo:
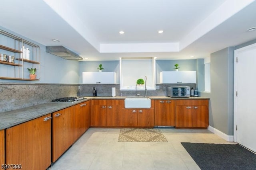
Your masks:
<svg viewBox="0 0 256 170"><path fill-rule="evenodd" d="M30 107L24 107L22 109L16 109L12 111L6 111L0 113L0 130L6 129L8 127L12 127L14 125L18 125L20 123L24 123L26 121L36 119L38 117L47 115L49 113L53 113L55 111L64 109L66 107L70 107L72 105L79 104L81 102L86 102L88 100L96 100L96 99L106 99L106 100L124 100L126 96L84 96L86 99L72 103L45 103L39 104ZM127 96L129 97L129 96ZM148 96L152 100L209 100L209 98L204 97L189 97L189 98L170 98L168 96Z"/></svg>

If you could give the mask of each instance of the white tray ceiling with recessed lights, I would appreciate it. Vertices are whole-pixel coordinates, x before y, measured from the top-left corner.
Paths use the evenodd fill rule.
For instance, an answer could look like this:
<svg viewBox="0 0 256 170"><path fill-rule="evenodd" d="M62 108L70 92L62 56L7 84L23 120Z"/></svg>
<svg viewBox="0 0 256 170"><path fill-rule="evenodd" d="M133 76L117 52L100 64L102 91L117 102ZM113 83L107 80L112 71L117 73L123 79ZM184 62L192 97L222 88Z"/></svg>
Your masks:
<svg viewBox="0 0 256 170"><path fill-rule="evenodd" d="M256 0L2 0L0 24L84 61L198 59L256 39L246 32L255 9Z"/></svg>

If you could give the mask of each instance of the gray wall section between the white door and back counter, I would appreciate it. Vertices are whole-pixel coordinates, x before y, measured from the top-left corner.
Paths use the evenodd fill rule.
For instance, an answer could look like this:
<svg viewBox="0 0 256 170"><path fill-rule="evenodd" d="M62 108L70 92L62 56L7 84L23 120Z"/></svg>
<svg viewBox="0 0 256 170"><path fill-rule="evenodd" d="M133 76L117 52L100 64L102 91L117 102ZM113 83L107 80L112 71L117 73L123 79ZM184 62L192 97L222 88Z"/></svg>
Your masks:
<svg viewBox="0 0 256 170"><path fill-rule="evenodd" d="M233 135L234 115L234 47L211 54L210 126Z"/></svg>

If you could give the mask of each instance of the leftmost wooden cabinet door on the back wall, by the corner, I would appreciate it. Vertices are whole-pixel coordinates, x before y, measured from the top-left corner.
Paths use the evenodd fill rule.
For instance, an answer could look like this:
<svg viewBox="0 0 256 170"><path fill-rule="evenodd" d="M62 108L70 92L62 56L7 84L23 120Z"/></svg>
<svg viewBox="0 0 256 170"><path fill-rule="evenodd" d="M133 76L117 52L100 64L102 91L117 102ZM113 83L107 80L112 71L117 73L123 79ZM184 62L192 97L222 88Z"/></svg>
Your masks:
<svg viewBox="0 0 256 170"><path fill-rule="evenodd" d="M92 105L91 115L90 115L90 125L91 126L106 126L106 105Z"/></svg>

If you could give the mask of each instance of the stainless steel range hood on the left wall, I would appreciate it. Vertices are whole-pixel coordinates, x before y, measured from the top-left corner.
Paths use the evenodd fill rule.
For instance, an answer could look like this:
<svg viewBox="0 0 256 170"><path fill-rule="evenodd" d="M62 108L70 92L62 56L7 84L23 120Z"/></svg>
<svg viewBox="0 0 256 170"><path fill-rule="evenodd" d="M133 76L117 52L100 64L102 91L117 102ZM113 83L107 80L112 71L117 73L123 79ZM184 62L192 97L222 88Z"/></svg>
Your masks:
<svg viewBox="0 0 256 170"><path fill-rule="evenodd" d="M58 57L62 57L66 60L82 60L83 58L80 57L78 54L70 51L66 47L63 46L46 46L46 52L56 55Z"/></svg>

